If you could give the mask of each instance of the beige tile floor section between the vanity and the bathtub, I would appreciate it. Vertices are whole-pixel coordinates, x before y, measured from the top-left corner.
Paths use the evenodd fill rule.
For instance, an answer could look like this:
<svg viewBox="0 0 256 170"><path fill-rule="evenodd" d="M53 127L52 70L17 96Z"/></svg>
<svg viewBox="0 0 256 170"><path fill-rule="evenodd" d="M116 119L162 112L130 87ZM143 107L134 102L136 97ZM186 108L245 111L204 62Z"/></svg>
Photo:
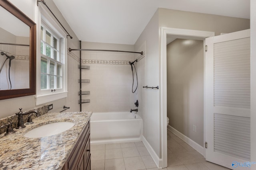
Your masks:
<svg viewBox="0 0 256 170"><path fill-rule="evenodd" d="M146 170L156 168L142 142L91 145L92 170Z"/></svg>

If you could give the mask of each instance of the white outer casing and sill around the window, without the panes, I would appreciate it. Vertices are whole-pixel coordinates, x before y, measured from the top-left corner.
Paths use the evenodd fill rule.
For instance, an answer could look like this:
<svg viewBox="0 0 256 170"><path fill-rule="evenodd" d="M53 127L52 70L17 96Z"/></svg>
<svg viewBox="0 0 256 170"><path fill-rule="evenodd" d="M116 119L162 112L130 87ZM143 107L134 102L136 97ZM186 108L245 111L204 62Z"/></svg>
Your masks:
<svg viewBox="0 0 256 170"><path fill-rule="evenodd" d="M63 46L60 49L62 53L62 89L52 90L41 90L41 21L44 21L48 27L54 31L58 36L62 38ZM60 42L61 43L61 42ZM45 104L54 100L66 98L68 96L68 84L67 84L67 37L66 33L60 28L60 26L54 21L54 19L44 10L44 8L38 5L38 24L37 24L37 62L36 62L36 105Z"/></svg>

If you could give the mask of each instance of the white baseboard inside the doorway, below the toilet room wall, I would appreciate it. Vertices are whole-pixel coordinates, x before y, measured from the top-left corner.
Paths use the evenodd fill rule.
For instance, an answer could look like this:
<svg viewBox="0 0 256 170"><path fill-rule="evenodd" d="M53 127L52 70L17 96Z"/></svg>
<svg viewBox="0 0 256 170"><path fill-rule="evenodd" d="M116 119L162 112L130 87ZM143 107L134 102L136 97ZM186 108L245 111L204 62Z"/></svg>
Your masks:
<svg viewBox="0 0 256 170"><path fill-rule="evenodd" d="M185 135L183 135L182 133L180 133L179 131L177 131L176 129L171 127L170 125L167 126L167 129L169 131L171 131L172 133L174 133L174 135L176 135L177 137L179 137L180 139L185 141L188 145L190 145L192 148L194 148L196 151L198 151L200 154L202 154L205 157L204 147L202 147L201 145L198 145L198 143L196 143L192 139L186 137Z"/></svg>

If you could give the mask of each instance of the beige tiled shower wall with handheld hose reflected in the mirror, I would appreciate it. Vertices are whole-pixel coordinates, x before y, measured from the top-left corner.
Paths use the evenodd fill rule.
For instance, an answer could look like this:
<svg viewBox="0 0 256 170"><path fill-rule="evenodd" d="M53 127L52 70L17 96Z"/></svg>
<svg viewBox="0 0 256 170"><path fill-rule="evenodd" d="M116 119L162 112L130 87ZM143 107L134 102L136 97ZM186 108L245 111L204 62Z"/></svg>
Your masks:
<svg viewBox="0 0 256 170"><path fill-rule="evenodd" d="M13 43L29 45L29 37L20 37L0 28L0 43ZM29 31L29 29L28 29ZM10 80L12 89L29 88L29 47L18 45L0 44L0 52L8 56L14 56L10 67ZM0 73L0 89L11 88L9 81L9 59L5 55L0 55L0 66L3 65Z"/></svg>

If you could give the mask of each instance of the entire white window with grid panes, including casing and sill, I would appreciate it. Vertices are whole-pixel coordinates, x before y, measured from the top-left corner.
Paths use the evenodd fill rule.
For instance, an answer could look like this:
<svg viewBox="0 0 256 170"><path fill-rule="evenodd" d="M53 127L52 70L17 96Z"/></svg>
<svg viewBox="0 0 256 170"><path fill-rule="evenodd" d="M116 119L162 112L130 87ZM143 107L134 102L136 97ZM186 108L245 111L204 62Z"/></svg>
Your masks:
<svg viewBox="0 0 256 170"><path fill-rule="evenodd" d="M36 105L68 96L66 33L41 4L38 10Z"/></svg>

